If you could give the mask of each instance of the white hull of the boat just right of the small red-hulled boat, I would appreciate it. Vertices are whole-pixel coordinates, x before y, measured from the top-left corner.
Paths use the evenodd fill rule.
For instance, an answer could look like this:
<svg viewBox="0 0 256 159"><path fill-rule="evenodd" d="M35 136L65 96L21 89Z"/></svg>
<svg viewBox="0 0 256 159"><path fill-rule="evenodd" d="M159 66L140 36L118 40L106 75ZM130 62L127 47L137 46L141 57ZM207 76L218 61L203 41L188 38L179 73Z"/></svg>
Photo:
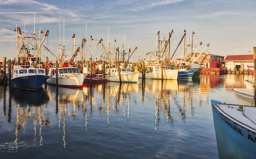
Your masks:
<svg viewBox="0 0 256 159"><path fill-rule="evenodd" d="M121 75L122 83L137 83L138 82L139 73L127 73ZM106 79L110 82L120 82L119 75L110 75L106 76Z"/></svg>

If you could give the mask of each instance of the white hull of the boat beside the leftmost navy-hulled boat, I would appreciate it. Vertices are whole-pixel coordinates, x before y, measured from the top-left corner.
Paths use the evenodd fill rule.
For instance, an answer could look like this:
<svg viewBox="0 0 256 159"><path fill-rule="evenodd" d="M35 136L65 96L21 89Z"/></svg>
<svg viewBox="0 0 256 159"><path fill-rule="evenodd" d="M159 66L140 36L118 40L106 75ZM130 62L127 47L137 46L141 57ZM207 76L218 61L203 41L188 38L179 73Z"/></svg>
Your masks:
<svg viewBox="0 0 256 159"><path fill-rule="evenodd" d="M86 75L84 73L59 76L58 77L58 86L81 88L85 77L86 77ZM56 86L56 78L50 77L47 80L47 84Z"/></svg>

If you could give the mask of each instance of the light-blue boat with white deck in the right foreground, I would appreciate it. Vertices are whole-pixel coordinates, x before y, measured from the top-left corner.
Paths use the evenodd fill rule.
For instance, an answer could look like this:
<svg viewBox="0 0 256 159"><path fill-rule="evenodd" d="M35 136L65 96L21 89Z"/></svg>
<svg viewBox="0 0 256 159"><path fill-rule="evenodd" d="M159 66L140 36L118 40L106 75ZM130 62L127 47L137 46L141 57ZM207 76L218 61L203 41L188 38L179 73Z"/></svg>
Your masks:
<svg viewBox="0 0 256 159"><path fill-rule="evenodd" d="M256 107L211 100L219 158L255 158Z"/></svg>

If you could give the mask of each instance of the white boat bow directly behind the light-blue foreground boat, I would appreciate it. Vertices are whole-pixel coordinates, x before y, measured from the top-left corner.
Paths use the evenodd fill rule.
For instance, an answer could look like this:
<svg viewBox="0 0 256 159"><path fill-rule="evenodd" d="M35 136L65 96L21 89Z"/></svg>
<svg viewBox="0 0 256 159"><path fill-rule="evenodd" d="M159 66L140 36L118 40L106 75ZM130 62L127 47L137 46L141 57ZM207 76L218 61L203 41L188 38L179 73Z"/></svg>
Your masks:
<svg viewBox="0 0 256 159"><path fill-rule="evenodd" d="M241 105L252 105L252 104L254 104L254 102L253 102L254 94L251 91L251 89L234 88L234 95L237 97L238 103L241 104Z"/></svg>

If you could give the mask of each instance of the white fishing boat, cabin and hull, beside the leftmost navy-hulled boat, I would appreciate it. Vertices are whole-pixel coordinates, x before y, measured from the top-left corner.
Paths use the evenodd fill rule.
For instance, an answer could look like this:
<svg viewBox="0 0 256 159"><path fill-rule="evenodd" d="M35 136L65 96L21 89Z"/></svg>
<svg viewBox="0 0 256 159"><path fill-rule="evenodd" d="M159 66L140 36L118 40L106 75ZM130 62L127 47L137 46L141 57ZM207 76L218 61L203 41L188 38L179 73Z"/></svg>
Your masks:
<svg viewBox="0 0 256 159"><path fill-rule="evenodd" d="M47 84L56 86L56 67L51 67L49 70L50 78ZM86 74L81 73L77 67L62 67L58 68L58 86L82 88L82 84Z"/></svg>

